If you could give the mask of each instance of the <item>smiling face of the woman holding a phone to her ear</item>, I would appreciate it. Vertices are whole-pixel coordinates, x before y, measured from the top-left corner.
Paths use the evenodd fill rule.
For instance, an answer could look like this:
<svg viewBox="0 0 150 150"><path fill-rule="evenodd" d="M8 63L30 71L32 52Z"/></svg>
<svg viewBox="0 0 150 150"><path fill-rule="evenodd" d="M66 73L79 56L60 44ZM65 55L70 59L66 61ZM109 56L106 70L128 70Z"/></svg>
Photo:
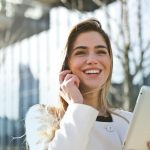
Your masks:
<svg viewBox="0 0 150 150"><path fill-rule="evenodd" d="M111 70L111 58L103 37L96 31L81 33L71 51L68 64L80 79L80 90L99 89Z"/></svg>

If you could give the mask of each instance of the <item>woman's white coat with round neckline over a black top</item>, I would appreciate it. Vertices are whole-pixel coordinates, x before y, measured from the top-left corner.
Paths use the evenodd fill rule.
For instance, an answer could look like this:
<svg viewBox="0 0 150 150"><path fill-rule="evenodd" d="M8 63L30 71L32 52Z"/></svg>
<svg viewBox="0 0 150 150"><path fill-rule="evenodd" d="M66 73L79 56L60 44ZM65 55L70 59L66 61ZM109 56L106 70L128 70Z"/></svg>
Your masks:
<svg viewBox="0 0 150 150"><path fill-rule="evenodd" d="M131 120L123 110L115 113ZM96 121L98 111L84 104L70 104L60 122L60 129L50 141L41 131L49 133L55 121L40 105L31 107L26 116L26 138L30 150L122 150L128 123L112 114L113 122Z"/></svg>

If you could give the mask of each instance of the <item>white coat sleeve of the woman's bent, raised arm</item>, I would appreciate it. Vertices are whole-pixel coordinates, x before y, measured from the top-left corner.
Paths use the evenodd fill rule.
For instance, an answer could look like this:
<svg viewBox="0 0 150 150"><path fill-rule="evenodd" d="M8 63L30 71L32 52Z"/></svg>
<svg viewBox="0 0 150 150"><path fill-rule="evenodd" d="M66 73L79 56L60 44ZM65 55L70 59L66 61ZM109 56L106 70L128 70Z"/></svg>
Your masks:
<svg viewBox="0 0 150 150"><path fill-rule="evenodd" d="M95 123L98 111L84 104L70 104L64 117L60 121L60 128L56 130L50 141L40 135L40 131L51 132L52 122L36 107L29 110L26 116L26 138L30 150L85 150L89 134ZM48 136L51 138L51 135Z"/></svg>

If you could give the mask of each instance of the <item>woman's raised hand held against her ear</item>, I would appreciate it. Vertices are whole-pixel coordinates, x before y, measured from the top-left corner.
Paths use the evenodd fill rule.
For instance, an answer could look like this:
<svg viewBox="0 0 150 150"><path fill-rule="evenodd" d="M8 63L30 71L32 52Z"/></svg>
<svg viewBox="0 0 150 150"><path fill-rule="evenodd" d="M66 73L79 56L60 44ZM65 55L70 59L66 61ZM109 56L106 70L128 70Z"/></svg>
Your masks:
<svg viewBox="0 0 150 150"><path fill-rule="evenodd" d="M79 90L80 80L79 78L71 74L70 70L64 70L59 74L60 82L60 95L69 104L83 103L83 96Z"/></svg>

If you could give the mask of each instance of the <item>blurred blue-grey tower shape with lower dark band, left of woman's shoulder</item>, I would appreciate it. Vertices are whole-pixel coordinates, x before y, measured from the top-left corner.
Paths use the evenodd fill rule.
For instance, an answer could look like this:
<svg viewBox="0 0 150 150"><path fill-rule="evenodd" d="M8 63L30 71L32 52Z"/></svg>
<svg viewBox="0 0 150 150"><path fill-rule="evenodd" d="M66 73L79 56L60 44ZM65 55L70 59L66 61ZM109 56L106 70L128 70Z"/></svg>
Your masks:
<svg viewBox="0 0 150 150"><path fill-rule="evenodd" d="M20 146L25 148L24 119L29 107L39 103L39 81L33 77L30 68L26 65L19 66L19 114L18 119L8 117L0 118L0 149L5 150L5 145Z"/></svg>

